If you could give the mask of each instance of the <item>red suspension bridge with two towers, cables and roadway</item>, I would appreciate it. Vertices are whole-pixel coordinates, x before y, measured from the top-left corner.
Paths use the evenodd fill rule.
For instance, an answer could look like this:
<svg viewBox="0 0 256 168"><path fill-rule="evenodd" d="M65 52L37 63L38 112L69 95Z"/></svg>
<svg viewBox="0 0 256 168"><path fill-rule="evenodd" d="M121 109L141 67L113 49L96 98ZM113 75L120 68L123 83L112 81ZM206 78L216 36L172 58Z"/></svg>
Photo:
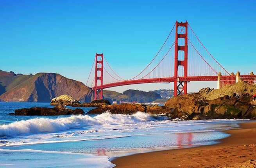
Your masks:
<svg viewBox="0 0 256 168"><path fill-rule="evenodd" d="M103 98L103 89L116 86L174 82L174 96L178 96L187 94L190 81L218 81L221 88L239 80L254 83L256 75L229 73L209 53L187 21L176 21L152 61L136 76L120 77L103 54L96 54L86 85L91 82L94 98L98 100Z"/></svg>

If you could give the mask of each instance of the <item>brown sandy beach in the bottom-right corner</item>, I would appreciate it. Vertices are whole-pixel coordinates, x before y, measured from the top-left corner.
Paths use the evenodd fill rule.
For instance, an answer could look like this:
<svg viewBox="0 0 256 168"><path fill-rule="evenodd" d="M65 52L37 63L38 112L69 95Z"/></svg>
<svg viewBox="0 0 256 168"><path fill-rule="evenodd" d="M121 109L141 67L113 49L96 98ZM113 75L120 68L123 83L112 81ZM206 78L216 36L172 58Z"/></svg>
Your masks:
<svg viewBox="0 0 256 168"><path fill-rule="evenodd" d="M225 131L221 143L118 157L116 168L256 168L256 122Z"/></svg>

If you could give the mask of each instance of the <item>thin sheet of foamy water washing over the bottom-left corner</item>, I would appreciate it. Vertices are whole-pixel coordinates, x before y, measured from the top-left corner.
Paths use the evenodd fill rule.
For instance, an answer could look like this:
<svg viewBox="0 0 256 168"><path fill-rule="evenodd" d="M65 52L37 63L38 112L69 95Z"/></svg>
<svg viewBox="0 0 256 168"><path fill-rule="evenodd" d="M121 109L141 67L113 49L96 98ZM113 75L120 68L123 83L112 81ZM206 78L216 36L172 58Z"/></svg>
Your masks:
<svg viewBox="0 0 256 168"><path fill-rule="evenodd" d="M26 154L24 157L29 159L28 163L19 162L10 160L9 158L3 158L5 160L5 164L0 164L0 166L11 166L11 167L47 167L51 166L53 163L56 167L66 167L68 165L75 166L86 166L93 168L113 168L115 164L111 163L107 156L95 156L91 154L81 154L81 153L72 153L72 152L58 152L58 151L45 151L45 150L32 150L32 149L21 149L21 150L9 150L9 149L0 149L0 152L12 153L12 155L16 155L18 153ZM36 153L38 157L46 157L48 162L40 161L37 159L31 159L30 153ZM47 154L40 155L40 154ZM55 155L53 160L50 160L51 155ZM19 156L19 155L18 155ZM3 156L4 157L4 156ZM50 159L49 159L50 158ZM68 158L68 159L67 159ZM42 159L44 160L44 159Z"/></svg>

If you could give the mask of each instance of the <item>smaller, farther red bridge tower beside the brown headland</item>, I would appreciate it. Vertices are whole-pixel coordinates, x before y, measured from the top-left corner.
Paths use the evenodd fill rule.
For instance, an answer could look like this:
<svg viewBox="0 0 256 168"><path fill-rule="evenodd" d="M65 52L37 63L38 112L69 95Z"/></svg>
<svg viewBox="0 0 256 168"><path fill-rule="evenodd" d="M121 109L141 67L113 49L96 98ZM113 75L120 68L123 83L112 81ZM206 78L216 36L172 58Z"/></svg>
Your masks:
<svg viewBox="0 0 256 168"><path fill-rule="evenodd" d="M100 73L100 74L99 74ZM103 54L95 55L95 84L94 84L94 100L103 99L103 89L97 89L98 80L100 86L103 85Z"/></svg>

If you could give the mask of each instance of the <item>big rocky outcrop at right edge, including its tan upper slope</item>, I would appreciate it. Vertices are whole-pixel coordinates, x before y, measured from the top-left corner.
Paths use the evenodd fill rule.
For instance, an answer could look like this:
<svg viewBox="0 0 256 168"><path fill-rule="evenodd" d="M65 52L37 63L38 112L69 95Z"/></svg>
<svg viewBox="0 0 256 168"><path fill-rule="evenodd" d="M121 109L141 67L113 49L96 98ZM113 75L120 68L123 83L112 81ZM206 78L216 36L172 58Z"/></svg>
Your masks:
<svg viewBox="0 0 256 168"><path fill-rule="evenodd" d="M165 106L179 118L201 119L256 119L255 100L252 95L256 86L238 82L222 89L201 89L199 93L170 98ZM227 94L227 95L225 95Z"/></svg>

